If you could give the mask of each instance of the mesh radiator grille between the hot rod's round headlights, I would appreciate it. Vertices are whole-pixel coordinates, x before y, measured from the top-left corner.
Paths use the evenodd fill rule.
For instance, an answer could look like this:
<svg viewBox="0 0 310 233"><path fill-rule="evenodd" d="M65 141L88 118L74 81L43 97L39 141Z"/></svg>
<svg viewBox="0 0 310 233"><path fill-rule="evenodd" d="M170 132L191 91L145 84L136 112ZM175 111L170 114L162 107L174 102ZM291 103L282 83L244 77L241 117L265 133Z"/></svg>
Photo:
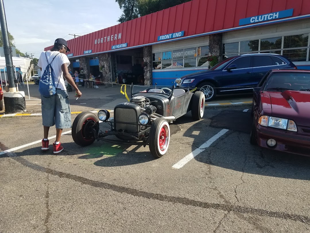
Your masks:
<svg viewBox="0 0 310 233"><path fill-rule="evenodd" d="M128 122L138 124L138 116L135 109L132 108L116 108L114 110L115 130L123 130L128 133L138 133L138 125L122 124L117 122Z"/></svg>

